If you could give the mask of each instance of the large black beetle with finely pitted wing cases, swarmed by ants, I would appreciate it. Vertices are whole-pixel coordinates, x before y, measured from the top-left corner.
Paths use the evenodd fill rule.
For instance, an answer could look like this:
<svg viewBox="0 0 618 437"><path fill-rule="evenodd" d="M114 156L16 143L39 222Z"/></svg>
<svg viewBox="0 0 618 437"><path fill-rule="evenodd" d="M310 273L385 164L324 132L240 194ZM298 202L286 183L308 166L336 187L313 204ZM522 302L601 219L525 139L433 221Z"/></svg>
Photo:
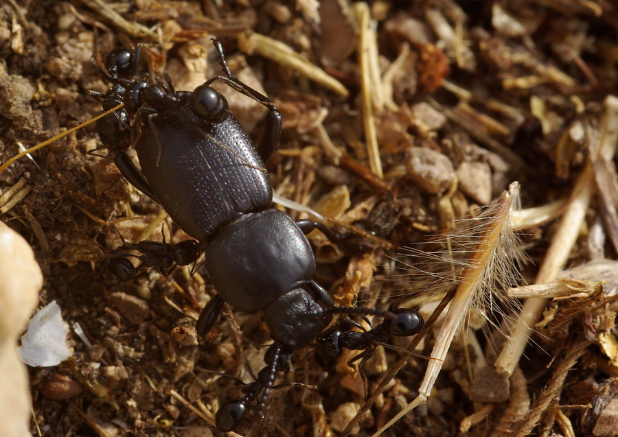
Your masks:
<svg viewBox="0 0 618 437"><path fill-rule="evenodd" d="M266 366L258 378L243 388L247 394L218 410L216 425L227 432L242 423L258 397L254 427L260 423L277 373L295 351L319 337L333 314L397 316L389 311L337 307L313 281L315 259L305 235L314 228L330 230L310 220L295 222L272 208L273 190L264 161L279 143L281 115L276 104L231 74L220 43L214 40L214 45L225 76L211 78L193 92L174 91L167 77L167 83L158 80L156 85L147 85L145 78L133 80L134 67L112 71L108 65L121 63L117 56L121 52L113 52L106 62L110 70L106 78L115 91L104 96L104 102L107 99L113 108L112 104L122 101L126 110L102 123L99 133L102 141L117 138L117 148L107 144L115 156L125 155L125 140L130 139L143 174L126 164L124 157L119 160L122 174L128 173L129 182L157 200L203 248L205 269L218 294L203 309L196 324L198 334L214 326L225 302L238 311L264 314L275 341L264 356ZM132 62L137 64L135 58ZM268 108L257 148L230 113L225 97L211 87L215 80Z"/></svg>

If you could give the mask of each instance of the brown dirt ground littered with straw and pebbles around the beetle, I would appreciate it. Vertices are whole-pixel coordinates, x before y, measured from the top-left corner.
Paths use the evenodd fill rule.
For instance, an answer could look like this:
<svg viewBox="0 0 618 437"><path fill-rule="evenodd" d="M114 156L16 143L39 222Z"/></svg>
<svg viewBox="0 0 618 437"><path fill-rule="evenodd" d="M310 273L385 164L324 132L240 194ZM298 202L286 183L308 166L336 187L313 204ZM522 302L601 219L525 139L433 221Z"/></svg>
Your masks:
<svg viewBox="0 0 618 437"><path fill-rule="evenodd" d="M548 248L564 238L568 250L558 268L602 265L574 273L577 287L559 284L577 294L547 300L504 399L470 400L479 356L491 364L504 341L470 331L476 349L455 340L428 403L383 435L612 435L618 182L613 152L599 158L599 150L611 150L607 138L617 129L607 100L618 91L617 29L618 8L607 0L5 0L0 162L100 113L89 91L106 93L109 84L91 58L102 65L111 49L141 43L140 74L167 72L176 89L192 90L220 74L210 42L216 36L233 73L279 105L282 140L267 163L275 193L335 219L345 226L337 229L374 248L354 253L310 236L314 279L338 305L385 308L390 296L404 295L416 298L407 305L423 307L428 318L428 300L442 298L453 275L444 271L444 257L424 263L436 259L414 250L404 259L401 248L445 229L477 247L482 226L457 231L466 226L458 220L486 217L481 206L514 181L524 209L555 208L542 220L532 214L520 243L510 243L518 247L500 249L500 262L525 252L517 273L533 284ZM257 142L266 110L220 89ZM14 200L3 198L2 220L32 244L45 277L41 306L60 305L74 350L58 366L29 369L32 434L222 434L211 426L214 412L242 395L238 379L251 382L264 366L268 328L261 314L226 307L215 329L194 344L194 322L214 296L205 272L187 266L163 277L146 269L124 284L111 277L108 254L127 251L119 235L160 241L161 224L167 241L187 235L130 187L113 161L89 153L100 145L90 124L0 174L2 193L21 184ZM564 237L560 217L580 202L582 187L591 201L572 237ZM406 272L393 258L426 267ZM427 272L435 281L420 279ZM492 275L501 274L496 268L485 282L499 283ZM440 324L427 330L418 356L353 435L373 434L416 397ZM172 338L179 326L189 337L180 342ZM323 363L312 348L299 351L293 371L277 379L283 386L271 393L255 435L341 435L367 398L360 373L345 364L354 355ZM369 392L400 355L376 348L363 366ZM238 433L250 429L247 420Z"/></svg>

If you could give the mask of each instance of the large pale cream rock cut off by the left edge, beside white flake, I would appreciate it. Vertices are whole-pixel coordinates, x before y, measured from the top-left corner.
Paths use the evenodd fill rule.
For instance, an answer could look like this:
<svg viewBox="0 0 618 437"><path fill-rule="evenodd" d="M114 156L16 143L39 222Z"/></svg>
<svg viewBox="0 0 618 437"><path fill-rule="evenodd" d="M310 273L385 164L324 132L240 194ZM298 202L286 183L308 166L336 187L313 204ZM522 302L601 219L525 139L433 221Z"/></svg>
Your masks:
<svg viewBox="0 0 618 437"><path fill-rule="evenodd" d="M38 304L43 275L26 241L0 223L0 436L30 436L30 386L17 339Z"/></svg>

